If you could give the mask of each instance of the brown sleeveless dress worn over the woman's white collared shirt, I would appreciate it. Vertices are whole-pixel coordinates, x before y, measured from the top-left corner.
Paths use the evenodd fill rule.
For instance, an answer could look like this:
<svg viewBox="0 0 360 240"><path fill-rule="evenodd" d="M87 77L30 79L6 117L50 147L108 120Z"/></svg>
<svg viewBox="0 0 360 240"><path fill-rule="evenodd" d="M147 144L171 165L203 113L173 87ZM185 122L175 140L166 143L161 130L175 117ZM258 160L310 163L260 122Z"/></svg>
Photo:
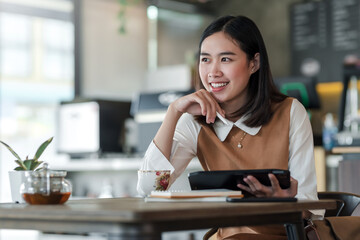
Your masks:
<svg viewBox="0 0 360 240"><path fill-rule="evenodd" d="M270 122L262 126L256 135L247 134L242 140L243 131L236 126L221 142L211 125L202 124L197 156L204 170L288 169L292 101L292 98L287 98L273 104L274 114ZM243 148L238 148L239 141ZM254 234L259 239L286 239L283 226L221 228L218 239L237 239L240 236L245 240L248 237L254 239Z"/></svg>

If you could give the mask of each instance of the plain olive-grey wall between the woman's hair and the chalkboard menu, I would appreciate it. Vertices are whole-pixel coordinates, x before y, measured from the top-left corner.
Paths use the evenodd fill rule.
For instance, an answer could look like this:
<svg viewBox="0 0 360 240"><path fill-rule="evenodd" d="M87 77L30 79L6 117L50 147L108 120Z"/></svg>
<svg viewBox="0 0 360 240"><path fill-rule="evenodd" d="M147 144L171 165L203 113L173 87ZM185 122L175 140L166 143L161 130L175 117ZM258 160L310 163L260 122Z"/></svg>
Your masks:
<svg viewBox="0 0 360 240"><path fill-rule="evenodd" d="M274 77L290 74L289 8L300 0L231 0L220 15L245 15L259 27L269 55Z"/></svg>

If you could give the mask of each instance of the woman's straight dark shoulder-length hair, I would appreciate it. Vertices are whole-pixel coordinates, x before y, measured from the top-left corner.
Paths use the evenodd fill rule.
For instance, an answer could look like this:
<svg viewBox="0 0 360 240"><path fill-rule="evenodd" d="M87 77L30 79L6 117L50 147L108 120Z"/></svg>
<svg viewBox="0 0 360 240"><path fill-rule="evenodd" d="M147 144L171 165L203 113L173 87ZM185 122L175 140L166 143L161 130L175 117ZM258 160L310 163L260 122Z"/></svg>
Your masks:
<svg viewBox="0 0 360 240"><path fill-rule="evenodd" d="M268 123L273 111L271 104L283 101L286 96L275 87L264 40L256 24L244 16L225 16L212 22L203 32L199 44L199 56L203 41L217 32L224 32L239 45L248 58L252 60L256 53L260 54L260 67L250 76L248 99L245 104L231 114L232 117L248 115L244 122L249 127L257 127ZM198 58L199 59L199 58ZM204 88L200 77L197 88Z"/></svg>

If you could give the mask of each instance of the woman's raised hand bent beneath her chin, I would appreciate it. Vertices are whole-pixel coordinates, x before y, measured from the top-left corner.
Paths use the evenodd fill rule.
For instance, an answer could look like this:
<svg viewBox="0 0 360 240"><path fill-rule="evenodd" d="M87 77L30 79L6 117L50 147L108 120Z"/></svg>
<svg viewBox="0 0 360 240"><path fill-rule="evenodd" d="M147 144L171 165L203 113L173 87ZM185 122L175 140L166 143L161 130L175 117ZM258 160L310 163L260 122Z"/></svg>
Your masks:
<svg viewBox="0 0 360 240"><path fill-rule="evenodd" d="M211 96L211 93L201 89L192 94L183 96L172 103L173 107L181 113L190 113L195 116L206 116L207 123L214 123L216 112L225 117L224 110Z"/></svg>

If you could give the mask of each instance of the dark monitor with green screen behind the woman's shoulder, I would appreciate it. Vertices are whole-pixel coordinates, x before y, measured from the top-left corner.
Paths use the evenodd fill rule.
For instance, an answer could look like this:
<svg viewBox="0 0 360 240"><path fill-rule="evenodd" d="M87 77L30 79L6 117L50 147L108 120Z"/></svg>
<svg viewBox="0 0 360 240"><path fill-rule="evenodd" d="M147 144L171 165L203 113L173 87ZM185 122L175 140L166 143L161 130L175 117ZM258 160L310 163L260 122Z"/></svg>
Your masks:
<svg viewBox="0 0 360 240"><path fill-rule="evenodd" d="M306 109L320 108L319 95L316 91L316 78L289 76L275 78L274 82L281 93L296 98Z"/></svg>

